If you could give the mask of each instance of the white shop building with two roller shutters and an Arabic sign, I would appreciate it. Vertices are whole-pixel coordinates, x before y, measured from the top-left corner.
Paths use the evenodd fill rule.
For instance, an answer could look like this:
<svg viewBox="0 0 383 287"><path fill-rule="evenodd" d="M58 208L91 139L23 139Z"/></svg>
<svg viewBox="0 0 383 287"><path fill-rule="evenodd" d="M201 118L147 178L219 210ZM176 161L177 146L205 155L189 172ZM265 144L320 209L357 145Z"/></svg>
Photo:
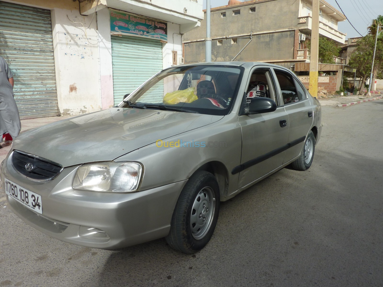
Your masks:
<svg viewBox="0 0 383 287"><path fill-rule="evenodd" d="M180 64L202 0L0 1L0 55L22 118L106 109Z"/></svg>

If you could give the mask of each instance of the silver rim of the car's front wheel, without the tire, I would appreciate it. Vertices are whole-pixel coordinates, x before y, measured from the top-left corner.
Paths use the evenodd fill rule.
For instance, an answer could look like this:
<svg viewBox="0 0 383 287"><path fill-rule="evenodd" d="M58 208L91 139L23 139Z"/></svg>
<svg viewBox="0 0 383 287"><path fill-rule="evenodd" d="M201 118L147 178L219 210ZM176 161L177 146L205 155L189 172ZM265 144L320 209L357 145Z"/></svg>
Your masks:
<svg viewBox="0 0 383 287"><path fill-rule="evenodd" d="M198 192L194 199L190 214L191 235L196 240L203 238L210 230L215 211L213 190L206 186Z"/></svg>

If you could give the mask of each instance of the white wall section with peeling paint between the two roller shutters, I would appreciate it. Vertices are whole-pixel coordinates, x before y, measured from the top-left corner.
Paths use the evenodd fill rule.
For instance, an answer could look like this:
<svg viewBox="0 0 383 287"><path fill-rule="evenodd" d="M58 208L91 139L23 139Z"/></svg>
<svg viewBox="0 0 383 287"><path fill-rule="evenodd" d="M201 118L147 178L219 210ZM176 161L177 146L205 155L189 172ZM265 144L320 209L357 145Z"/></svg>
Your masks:
<svg viewBox="0 0 383 287"><path fill-rule="evenodd" d="M93 15L81 16L78 10L60 8L54 8L51 15L60 113L76 115L100 110L96 17L91 23Z"/></svg>

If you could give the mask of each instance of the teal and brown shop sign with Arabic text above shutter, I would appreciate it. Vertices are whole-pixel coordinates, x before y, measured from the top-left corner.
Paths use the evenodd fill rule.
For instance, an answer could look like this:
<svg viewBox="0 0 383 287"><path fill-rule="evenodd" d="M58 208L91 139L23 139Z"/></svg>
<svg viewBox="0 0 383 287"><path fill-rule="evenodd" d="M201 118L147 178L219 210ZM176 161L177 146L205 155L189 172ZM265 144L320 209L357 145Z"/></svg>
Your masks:
<svg viewBox="0 0 383 287"><path fill-rule="evenodd" d="M167 23L110 9L110 31L167 41Z"/></svg>

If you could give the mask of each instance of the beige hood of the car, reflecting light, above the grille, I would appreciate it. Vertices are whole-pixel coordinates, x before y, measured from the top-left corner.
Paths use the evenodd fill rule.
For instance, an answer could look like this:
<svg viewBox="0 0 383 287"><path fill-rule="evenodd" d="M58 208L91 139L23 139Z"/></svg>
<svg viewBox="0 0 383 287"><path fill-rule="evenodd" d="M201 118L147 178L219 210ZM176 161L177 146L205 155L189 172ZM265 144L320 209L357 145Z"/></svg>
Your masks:
<svg viewBox="0 0 383 287"><path fill-rule="evenodd" d="M13 149L63 167L113 160L137 148L219 121L223 116L110 108L22 133Z"/></svg>

